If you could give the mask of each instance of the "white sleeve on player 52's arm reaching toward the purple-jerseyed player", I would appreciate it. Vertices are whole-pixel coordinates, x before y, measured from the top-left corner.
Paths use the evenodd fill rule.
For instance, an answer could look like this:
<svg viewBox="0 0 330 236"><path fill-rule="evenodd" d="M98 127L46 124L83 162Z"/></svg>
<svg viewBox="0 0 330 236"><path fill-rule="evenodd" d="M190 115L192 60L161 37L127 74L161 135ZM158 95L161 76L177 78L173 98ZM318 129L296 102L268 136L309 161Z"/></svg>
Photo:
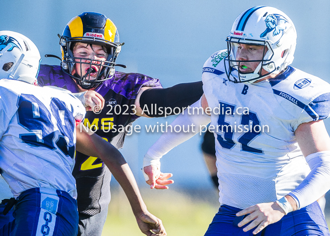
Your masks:
<svg viewBox="0 0 330 236"><path fill-rule="evenodd" d="M197 112L197 109L194 108L197 108L199 112ZM175 126L180 126L181 132L174 132L175 129L173 129L173 132L163 133L160 138L149 148L143 160L143 167L148 165L156 165L159 168L159 159L163 155L167 154L180 143L185 142L195 134L199 133L201 129L205 128L206 125L211 122L211 116L207 115L205 112L202 112L202 109L200 99L192 104L190 109L187 108L184 110L184 112L171 123L173 128ZM189 132L185 132L188 130L188 127Z"/></svg>

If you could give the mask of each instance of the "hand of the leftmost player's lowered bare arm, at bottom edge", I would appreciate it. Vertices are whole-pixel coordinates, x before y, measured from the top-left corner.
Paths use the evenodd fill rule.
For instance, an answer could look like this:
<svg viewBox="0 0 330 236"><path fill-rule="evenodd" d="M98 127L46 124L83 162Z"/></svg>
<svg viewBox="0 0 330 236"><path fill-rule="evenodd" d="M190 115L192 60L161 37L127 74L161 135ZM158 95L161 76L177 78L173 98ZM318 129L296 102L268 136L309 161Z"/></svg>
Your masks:
<svg viewBox="0 0 330 236"><path fill-rule="evenodd" d="M148 236L166 236L166 231L160 219L150 212L144 212L137 217L140 230Z"/></svg>

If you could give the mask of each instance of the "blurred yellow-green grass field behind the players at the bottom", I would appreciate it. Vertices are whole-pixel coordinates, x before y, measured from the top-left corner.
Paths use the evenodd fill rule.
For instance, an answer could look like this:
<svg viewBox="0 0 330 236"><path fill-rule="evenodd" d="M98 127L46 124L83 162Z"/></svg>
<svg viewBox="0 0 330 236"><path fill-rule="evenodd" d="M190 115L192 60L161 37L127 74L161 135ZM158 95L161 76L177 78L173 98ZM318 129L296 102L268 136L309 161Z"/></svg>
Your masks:
<svg viewBox="0 0 330 236"><path fill-rule="evenodd" d="M149 212L160 218L169 236L204 235L219 208L214 190L177 191L142 189ZM109 215L102 236L144 235L121 189L112 189Z"/></svg>

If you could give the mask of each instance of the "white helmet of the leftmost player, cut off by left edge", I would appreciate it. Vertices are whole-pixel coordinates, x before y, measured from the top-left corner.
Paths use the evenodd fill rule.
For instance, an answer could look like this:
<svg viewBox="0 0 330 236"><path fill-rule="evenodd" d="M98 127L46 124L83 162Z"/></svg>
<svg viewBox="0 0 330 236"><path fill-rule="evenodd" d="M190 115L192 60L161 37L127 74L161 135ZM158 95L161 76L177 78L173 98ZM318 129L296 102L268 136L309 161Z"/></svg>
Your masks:
<svg viewBox="0 0 330 236"><path fill-rule="evenodd" d="M0 79L17 79L38 84L40 53L24 35L0 31Z"/></svg>

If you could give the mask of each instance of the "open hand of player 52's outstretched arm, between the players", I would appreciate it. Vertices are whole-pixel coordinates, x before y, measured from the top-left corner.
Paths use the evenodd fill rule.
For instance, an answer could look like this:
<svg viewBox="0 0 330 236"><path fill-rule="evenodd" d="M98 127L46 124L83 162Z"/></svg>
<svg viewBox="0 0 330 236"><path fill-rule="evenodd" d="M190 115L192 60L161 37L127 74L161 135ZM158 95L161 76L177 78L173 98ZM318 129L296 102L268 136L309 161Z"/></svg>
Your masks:
<svg viewBox="0 0 330 236"><path fill-rule="evenodd" d="M169 180L173 176L172 173L162 173L154 165L148 165L143 168L144 172L148 175L149 180L146 181L150 188L153 189L168 189L169 187L166 185L173 184L173 180Z"/></svg>

